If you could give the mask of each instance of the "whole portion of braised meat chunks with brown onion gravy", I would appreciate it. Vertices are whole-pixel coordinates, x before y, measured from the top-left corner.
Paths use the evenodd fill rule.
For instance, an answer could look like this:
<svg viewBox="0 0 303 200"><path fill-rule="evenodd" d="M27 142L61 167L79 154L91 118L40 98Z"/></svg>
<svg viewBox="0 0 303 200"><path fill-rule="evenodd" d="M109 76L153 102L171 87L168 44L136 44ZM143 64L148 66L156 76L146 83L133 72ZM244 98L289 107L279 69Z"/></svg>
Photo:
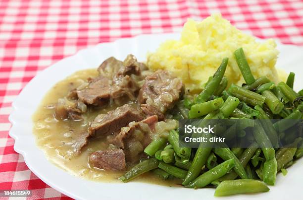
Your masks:
<svg viewBox="0 0 303 200"><path fill-rule="evenodd" d="M183 92L167 71L150 71L133 55L110 57L57 83L34 115L34 132L61 167L94 180L116 178L147 158L143 150L153 139L178 126L167 116Z"/></svg>

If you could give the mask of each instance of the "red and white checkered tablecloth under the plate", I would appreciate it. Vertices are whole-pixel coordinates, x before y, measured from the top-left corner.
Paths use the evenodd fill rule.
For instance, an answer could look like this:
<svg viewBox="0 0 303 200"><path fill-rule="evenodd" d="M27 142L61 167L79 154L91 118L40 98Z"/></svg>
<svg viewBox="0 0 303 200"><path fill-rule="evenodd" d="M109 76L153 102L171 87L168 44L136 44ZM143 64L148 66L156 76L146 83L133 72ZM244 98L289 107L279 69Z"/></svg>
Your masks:
<svg viewBox="0 0 303 200"><path fill-rule="evenodd" d="M27 168L8 136L11 102L37 72L79 49L177 32L187 18L213 12L257 37L303 45L302 0L0 0L0 190L68 199Z"/></svg>

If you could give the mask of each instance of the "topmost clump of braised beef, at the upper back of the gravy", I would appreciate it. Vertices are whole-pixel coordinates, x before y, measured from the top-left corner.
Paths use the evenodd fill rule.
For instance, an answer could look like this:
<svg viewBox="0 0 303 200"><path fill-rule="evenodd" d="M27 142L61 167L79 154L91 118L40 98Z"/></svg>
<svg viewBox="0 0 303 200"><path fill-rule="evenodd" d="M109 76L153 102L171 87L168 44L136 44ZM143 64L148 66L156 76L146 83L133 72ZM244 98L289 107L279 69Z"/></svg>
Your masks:
<svg viewBox="0 0 303 200"><path fill-rule="evenodd" d="M125 99L135 100L140 87L141 68L145 65L128 55L124 62L114 57L106 59L99 67L100 76L89 81L86 88L77 91L78 97L86 104L102 105L112 99L117 105Z"/></svg>

